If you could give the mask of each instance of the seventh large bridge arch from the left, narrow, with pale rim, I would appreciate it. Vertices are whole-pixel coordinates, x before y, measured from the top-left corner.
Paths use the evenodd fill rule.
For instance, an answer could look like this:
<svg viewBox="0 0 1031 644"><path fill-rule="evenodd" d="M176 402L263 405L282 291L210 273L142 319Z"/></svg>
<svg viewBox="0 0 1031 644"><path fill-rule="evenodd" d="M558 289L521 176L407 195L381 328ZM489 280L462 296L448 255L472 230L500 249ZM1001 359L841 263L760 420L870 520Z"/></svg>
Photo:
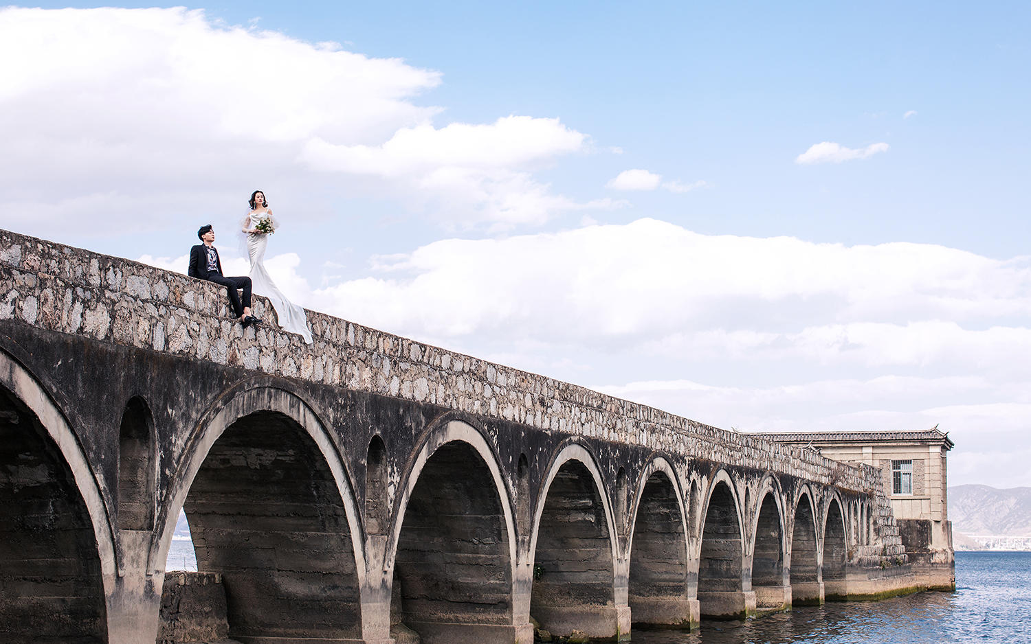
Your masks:
<svg viewBox="0 0 1031 644"><path fill-rule="evenodd" d="M763 477L756 494L756 510L752 534L752 589L756 606L761 609L783 607L790 601L785 579L784 490L775 477Z"/></svg>

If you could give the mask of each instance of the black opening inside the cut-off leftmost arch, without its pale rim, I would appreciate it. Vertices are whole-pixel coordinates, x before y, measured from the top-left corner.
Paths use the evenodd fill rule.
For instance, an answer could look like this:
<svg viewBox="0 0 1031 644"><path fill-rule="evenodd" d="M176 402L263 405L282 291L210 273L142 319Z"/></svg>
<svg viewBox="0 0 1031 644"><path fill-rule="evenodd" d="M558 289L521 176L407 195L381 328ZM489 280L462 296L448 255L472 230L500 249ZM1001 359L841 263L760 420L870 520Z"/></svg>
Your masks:
<svg viewBox="0 0 1031 644"><path fill-rule="evenodd" d="M38 417L0 387L0 639L106 643L104 584L86 502Z"/></svg>

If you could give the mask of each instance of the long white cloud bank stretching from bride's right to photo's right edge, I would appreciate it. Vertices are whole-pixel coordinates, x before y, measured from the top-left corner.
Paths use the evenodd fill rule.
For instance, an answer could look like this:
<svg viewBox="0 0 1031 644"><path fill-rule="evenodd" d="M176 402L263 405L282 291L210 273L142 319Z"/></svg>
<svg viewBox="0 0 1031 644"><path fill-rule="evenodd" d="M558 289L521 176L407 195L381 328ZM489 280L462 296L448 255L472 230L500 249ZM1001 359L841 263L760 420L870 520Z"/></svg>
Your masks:
<svg viewBox="0 0 1031 644"><path fill-rule="evenodd" d="M745 347L789 343L811 360L859 353L864 364L926 361L951 350L958 336L995 346L972 340L983 336L971 329L1031 312L1026 258L1000 262L929 244L705 236L655 219L442 240L384 260L376 272L324 292L327 306L360 312L373 326L443 337L504 330L663 343L685 334L697 350L702 334L741 341L733 334L744 333ZM764 316L781 320L779 328L760 324ZM943 319L952 321L935 321ZM962 320L972 328L951 326ZM1004 337L999 327L984 335ZM944 340L899 347L924 336Z"/></svg>

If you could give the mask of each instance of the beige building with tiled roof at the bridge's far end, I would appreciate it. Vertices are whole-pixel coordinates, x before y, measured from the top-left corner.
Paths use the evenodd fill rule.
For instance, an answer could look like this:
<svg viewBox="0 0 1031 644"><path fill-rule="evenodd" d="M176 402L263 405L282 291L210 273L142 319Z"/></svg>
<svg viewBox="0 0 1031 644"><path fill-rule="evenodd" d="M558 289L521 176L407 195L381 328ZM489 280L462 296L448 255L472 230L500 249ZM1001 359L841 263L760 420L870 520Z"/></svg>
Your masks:
<svg viewBox="0 0 1031 644"><path fill-rule="evenodd" d="M913 574L929 588L956 587L953 524L949 520L949 451L934 426L923 431L760 434L843 463L877 468Z"/></svg>

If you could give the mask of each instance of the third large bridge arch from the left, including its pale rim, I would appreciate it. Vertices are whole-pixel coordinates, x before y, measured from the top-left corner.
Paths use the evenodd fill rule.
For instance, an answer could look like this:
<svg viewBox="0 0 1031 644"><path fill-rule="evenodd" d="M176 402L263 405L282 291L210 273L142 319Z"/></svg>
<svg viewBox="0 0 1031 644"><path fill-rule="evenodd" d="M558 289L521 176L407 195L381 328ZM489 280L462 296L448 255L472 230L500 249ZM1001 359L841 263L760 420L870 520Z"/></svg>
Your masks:
<svg viewBox="0 0 1031 644"><path fill-rule="evenodd" d="M405 473L385 570L392 618L423 642L517 641L511 494L480 431L448 414L425 432Z"/></svg>

